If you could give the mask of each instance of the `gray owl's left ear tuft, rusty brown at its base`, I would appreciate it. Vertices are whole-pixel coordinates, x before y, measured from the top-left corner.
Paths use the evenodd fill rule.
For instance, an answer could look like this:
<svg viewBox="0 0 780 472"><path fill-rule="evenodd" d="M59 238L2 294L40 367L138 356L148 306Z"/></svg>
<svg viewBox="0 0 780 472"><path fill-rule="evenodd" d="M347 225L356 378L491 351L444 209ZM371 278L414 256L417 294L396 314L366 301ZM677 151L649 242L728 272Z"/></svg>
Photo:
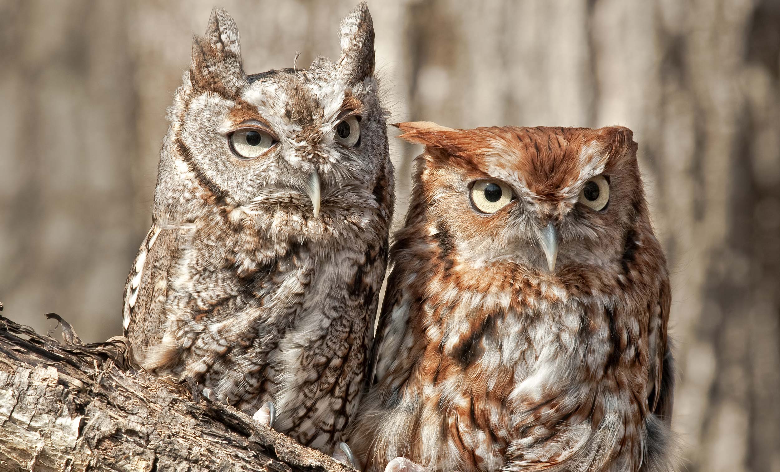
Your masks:
<svg viewBox="0 0 780 472"><path fill-rule="evenodd" d="M246 83L239 29L225 9L211 10L206 34L193 38L190 80L197 90L233 95Z"/></svg>

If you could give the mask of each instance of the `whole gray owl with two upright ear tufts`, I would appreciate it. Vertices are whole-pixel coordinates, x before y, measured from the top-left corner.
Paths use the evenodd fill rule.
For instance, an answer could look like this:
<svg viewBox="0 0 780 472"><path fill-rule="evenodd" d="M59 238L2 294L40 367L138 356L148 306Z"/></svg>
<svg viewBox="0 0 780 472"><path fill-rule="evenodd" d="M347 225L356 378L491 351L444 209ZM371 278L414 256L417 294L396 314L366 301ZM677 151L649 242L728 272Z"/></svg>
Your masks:
<svg viewBox="0 0 780 472"><path fill-rule="evenodd" d="M336 62L246 75L236 23L211 13L123 310L148 371L270 404L275 429L327 452L365 382L394 203L364 2L340 42Z"/></svg>

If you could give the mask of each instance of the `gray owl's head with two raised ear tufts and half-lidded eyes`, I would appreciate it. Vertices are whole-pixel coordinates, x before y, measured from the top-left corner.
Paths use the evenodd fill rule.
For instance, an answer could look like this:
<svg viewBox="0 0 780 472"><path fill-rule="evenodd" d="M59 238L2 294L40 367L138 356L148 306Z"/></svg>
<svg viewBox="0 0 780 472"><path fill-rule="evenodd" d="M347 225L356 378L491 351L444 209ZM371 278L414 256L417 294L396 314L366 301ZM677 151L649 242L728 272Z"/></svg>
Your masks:
<svg viewBox="0 0 780 472"><path fill-rule="evenodd" d="M181 207L197 194L236 218L260 212L307 221L378 206L372 191L391 164L364 2L343 19L340 41L336 62L247 75L236 23L215 9L205 35L194 37L190 70L168 112L165 147L174 157L166 160L164 149L158 181L158 188L194 186L179 191L178 208L158 192L156 208L191 217L195 206Z"/></svg>

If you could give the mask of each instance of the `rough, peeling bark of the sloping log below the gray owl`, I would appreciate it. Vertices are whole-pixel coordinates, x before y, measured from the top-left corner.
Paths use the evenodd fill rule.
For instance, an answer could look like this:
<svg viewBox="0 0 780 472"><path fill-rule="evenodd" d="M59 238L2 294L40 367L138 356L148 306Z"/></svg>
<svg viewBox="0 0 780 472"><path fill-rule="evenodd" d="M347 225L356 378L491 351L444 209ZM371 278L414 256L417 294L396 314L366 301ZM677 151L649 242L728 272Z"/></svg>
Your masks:
<svg viewBox="0 0 780 472"><path fill-rule="evenodd" d="M64 327L71 344L0 316L0 470L350 470Z"/></svg>

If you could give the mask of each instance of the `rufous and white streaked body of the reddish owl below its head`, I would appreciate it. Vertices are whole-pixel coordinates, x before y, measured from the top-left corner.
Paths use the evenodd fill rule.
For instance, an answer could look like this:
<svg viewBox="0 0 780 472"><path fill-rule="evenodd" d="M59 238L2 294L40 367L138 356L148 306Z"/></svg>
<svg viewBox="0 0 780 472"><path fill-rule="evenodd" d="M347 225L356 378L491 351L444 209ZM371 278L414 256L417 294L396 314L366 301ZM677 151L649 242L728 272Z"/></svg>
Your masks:
<svg viewBox="0 0 780 472"><path fill-rule="evenodd" d="M430 243L396 253L368 419L351 435L363 470L395 456L431 470L638 470L671 414L669 298L657 241L631 238L624 259L555 276L475 270Z"/></svg>

